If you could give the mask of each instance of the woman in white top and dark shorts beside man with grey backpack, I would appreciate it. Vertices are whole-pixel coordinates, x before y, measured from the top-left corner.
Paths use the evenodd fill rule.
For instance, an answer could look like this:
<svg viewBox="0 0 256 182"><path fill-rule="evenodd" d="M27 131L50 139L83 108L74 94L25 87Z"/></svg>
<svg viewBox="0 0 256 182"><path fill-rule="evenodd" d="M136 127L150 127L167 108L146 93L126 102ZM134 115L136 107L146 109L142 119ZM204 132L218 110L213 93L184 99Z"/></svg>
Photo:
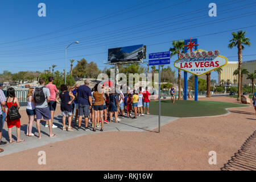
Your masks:
<svg viewBox="0 0 256 182"><path fill-rule="evenodd" d="M34 88L28 89L27 93L27 115L28 115L28 124L27 124L27 135L28 137L34 137L32 133L32 126L35 119L35 103L33 100L33 90Z"/></svg>

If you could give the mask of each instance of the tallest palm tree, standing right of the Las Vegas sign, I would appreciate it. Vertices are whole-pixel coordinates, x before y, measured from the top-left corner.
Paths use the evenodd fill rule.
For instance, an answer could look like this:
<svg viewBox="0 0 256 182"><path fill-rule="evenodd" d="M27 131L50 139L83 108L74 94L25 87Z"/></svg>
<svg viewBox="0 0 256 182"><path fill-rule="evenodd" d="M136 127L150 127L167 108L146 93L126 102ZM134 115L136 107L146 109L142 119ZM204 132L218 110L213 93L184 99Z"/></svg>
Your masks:
<svg viewBox="0 0 256 182"><path fill-rule="evenodd" d="M238 88L242 88L242 78L241 78L241 69L242 69L242 49L246 46L251 46L250 39L245 37L246 32L238 31L232 32L233 39L229 40L229 48L237 46L238 49ZM237 101L241 101L241 89L238 89Z"/></svg>

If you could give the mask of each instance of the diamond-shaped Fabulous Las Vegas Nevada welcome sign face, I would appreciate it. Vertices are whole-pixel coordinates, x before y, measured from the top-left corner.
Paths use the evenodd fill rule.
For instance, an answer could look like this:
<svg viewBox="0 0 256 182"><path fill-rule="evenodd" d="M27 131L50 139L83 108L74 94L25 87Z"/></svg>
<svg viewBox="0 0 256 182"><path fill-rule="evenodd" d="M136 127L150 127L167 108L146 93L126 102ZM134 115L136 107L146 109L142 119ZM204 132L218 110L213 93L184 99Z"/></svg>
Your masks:
<svg viewBox="0 0 256 182"><path fill-rule="evenodd" d="M198 49L191 53L180 53L174 66L193 75L201 76L212 72L214 69L224 67L228 59L220 55L220 51L204 51Z"/></svg>

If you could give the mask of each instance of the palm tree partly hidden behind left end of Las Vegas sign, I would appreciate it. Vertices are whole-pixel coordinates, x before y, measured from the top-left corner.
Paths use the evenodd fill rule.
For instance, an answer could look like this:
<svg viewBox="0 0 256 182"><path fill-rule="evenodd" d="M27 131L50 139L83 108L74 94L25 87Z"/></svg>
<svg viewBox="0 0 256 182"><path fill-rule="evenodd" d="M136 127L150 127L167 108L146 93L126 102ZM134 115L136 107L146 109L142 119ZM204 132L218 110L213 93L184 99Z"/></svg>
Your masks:
<svg viewBox="0 0 256 182"><path fill-rule="evenodd" d="M184 53L184 41L182 40L177 42L173 41L172 46L173 47L170 48L171 57L177 54L179 59L180 53ZM179 100L181 100L181 69L179 69L178 78L179 78Z"/></svg>

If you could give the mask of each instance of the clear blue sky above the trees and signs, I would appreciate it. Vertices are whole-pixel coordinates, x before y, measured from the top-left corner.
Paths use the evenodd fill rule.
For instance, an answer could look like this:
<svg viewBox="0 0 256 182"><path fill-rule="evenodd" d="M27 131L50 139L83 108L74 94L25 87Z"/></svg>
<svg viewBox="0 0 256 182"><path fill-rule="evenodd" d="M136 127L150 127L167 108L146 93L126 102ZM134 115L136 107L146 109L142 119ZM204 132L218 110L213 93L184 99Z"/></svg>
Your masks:
<svg viewBox="0 0 256 182"><path fill-rule="evenodd" d="M38 16L40 2L46 4L46 17ZM210 2L217 4L217 17L208 15ZM44 71L52 64L63 71L65 46L75 41L80 44L68 48L67 68L69 59L84 57L104 69L108 48L144 44L148 56L190 36L198 38L199 48L218 49L229 61L237 61L237 48L228 48L232 31L201 35L255 25L255 7L253 0L1 0L0 73ZM242 30L251 39L243 55L255 55L256 26ZM243 61L254 59L243 56ZM172 68L175 60L172 57ZM217 80L217 74L212 78Z"/></svg>

